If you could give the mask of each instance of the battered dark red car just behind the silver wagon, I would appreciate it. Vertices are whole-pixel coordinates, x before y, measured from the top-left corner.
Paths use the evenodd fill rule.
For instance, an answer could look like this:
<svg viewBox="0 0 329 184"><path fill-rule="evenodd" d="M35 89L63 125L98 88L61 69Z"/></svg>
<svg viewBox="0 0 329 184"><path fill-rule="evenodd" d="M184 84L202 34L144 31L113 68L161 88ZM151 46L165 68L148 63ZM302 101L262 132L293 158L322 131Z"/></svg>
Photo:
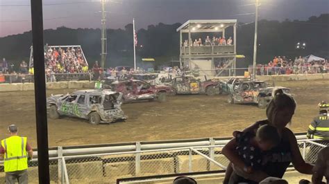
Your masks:
<svg viewBox="0 0 329 184"><path fill-rule="evenodd" d="M112 91L124 94L124 102L137 102L141 100L165 102L167 100L167 94L174 94L170 86L151 85L141 80L112 82L111 88Z"/></svg>

